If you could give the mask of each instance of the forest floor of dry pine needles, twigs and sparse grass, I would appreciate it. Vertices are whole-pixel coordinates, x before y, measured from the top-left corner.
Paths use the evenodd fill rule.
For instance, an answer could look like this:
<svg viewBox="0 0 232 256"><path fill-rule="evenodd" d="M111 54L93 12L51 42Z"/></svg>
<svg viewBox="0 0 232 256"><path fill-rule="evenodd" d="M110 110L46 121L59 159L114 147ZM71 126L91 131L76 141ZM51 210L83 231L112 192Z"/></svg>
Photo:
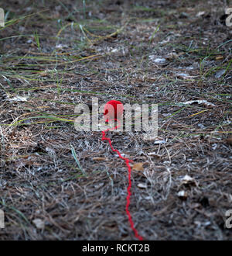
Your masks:
<svg viewBox="0 0 232 256"><path fill-rule="evenodd" d="M136 240L125 162L101 131L73 125L74 107L97 97L159 106L155 140L108 133L133 160L129 209L138 233L231 240L232 26L224 14L232 2L0 7L0 239Z"/></svg>

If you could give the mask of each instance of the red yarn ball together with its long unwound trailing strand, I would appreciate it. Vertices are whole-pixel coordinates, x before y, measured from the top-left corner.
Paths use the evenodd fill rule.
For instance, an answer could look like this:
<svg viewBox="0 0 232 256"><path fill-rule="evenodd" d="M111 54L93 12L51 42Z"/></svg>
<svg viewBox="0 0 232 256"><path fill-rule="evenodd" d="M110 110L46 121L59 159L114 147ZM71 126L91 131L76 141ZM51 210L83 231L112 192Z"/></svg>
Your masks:
<svg viewBox="0 0 232 256"><path fill-rule="evenodd" d="M118 118L120 118L122 116L122 113L123 113L123 105L121 102L118 102L118 101L110 101L110 102L107 102L107 104L110 104L112 106L114 106L114 116L116 115ZM106 106L107 106L106 104ZM117 113L117 105L120 104L120 109L119 109L119 112ZM106 109L106 106L104 107L104 115L107 114L107 112L105 111ZM109 113L111 115L111 112ZM118 114L118 115L117 115ZM113 118L111 120L116 120L117 122L119 122L119 120L117 118ZM106 119L106 122L108 122L109 120ZM110 147L111 147L111 150L113 150L114 152L117 152L118 153L118 156L125 161L127 167L128 167L128 195L127 195L127 204L126 204L126 213L128 215L128 219L129 219L129 223L131 224L131 229L134 231L135 233L135 237L138 238L138 240L143 240L143 237L141 237L139 234L138 234L138 230L135 229L135 225L134 225L134 222L132 220L132 217L131 217L131 213L129 211L129 206L130 206L130 198L131 198L131 166L129 164L129 162L131 162L132 160L129 160L128 158L126 157L122 157L120 152L117 150L117 149L114 149L114 147L112 146L111 144L111 139L108 138L108 137L105 137L105 133L108 131L108 130L116 130L118 127L120 126L120 124L118 126L115 126L114 128L109 128L107 130L103 130L102 131L102 138L101 140L104 141L104 140L107 140L108 143L110 144Z"/></svg>

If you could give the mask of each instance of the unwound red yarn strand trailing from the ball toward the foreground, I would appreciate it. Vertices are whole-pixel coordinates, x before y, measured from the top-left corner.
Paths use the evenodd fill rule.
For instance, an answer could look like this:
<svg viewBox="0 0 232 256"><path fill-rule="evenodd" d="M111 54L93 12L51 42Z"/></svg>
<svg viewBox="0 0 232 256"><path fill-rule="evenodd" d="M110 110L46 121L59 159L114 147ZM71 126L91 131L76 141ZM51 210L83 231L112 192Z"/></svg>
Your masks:
<svg viewBox="0 0 232 256"><path fill-rule="evenodd" d="M114 120L114 119L113 119ZM117 121L119 121L118 119L116 119ZM120 126L120 125L119 125ZM114 147L112 146L111 144L111 139L106 137L105 136L105 133L108 131L108 130L116 130L118 128L118 126L115 126L114 128L109 128L107 130L103 130L101 133L102 133L102 138L101 140L104 141L104 140L107 140L108 143L110 144L110 147L111 147L111 150L113 150L114 152L117 152L118 153L118 156L125 161L125 164L127 165L128 167L128 195L127 195L127 204L126 204L126 213L128 215L128 219L129 219L129 223L131 224L131 229L134 231L135 233L135 237L138 238L138 240L143 240L143 237L140 236L138 234L138 230L135 229L135 225L134 225L134 222L132 220L132 217L131 217L131 213L129 211L129 206L130 206L130 198L131 198L131 166L129 164L129 162L132 162L132 160L129 160L128 158L126 157L122 157L120 152L117 150L117 149L114 149Z"/></svg>

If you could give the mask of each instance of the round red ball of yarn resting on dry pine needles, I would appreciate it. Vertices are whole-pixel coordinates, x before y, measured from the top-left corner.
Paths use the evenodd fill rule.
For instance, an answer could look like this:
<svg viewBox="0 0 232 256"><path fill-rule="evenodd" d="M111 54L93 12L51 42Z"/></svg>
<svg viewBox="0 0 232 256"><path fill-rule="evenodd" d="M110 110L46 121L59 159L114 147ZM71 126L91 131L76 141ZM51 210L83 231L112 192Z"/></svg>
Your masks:
<svg viewBox="0 0 232 256"><path fill-rule="evenodd" d="M123 114L123 104L118 100L111 100L104 106L104 118L108 122L109 119L121 119Z"/></svg>

